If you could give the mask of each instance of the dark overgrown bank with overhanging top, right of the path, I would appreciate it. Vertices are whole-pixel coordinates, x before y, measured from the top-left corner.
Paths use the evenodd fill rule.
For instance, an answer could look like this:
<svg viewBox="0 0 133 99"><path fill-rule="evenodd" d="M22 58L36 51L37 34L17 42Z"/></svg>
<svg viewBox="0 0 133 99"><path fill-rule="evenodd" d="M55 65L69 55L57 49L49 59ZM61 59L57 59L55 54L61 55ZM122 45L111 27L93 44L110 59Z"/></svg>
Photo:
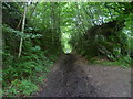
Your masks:
<svg viewBox="0 0 133 99"><path fill-rule="evenodd" d="M133 36L131 31L131 18L133 14L131 12L131 4L132 3L117 3L117 6L117 6L110 9L112 10L113 18L108 18L109 14L106 14L106 21L102 24L99 24L100 21L98 21L98 23L95 22L85 32L75 31L75 35L72 35L70 41L73 51L92 62L94 57L100 57L101 59L106 58L106 62L95 59L99 64L130 67L133 57ZM96 6L95 3L92 7L95 8L96 11L101 11ZM105 6L111 8L114 3L105 3ZM105 10L105 8L102 10ZM102 15L102 13L96 11L94 13ZM99 20L96 16L95 19Z"/></svg>

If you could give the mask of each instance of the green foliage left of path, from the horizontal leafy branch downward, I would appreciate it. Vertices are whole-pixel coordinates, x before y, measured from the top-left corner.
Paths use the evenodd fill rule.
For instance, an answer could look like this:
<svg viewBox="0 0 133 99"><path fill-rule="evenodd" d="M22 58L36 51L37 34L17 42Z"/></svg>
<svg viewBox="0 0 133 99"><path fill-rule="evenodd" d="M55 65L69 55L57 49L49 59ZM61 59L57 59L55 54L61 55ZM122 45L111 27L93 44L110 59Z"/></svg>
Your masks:
<svg viewBox="0 0 133 99"><path fill-rule="evenodd" d="M2 29L3 96L30 96L38 90L38 85L43 82L57 56L48 57L48 50L42 51L40 44L34 45L35 40L40 41L42 37L41 34L34 33L37 29L29 28L24 33L8 25L3 25ZM14 51L18 51L19 43L13 41L19 42L20 36L24 41L22 56L18 59L18 52Z"/></svg>

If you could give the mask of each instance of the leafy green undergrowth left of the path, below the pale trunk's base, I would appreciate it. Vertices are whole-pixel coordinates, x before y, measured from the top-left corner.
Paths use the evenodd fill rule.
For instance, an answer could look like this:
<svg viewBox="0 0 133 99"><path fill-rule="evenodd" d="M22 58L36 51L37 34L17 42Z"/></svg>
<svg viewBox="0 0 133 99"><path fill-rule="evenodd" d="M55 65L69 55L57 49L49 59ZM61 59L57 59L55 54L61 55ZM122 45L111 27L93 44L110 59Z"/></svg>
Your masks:
<svg viewBox="0 0 133 99"><path fill-rule="evenodd" d="M8 32L20 33L11 28L3 26L3 33ZM38 35L32 36L34 36L33 38L38 37ZM2 55L3 96L30 96L38 91L39 85L43 82L57 58L55 55L47 56L47 53L40 46L32 45L30 40L27 40L23 45L23 55L18 59L11 55L9 46L4 46Z"/></svg>

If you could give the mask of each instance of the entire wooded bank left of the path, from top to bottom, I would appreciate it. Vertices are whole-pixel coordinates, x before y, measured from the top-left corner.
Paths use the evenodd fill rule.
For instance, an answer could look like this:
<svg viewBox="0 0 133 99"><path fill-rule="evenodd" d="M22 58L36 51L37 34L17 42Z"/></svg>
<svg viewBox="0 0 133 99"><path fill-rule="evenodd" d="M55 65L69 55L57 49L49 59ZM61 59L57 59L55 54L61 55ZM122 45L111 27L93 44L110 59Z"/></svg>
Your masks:
<svg viewBox="0 0 133 99"><path fill-rule="evenodd" d="M29 19L32 11L27 12L27 24L24 30L21 29L24 6L25 3L2 3L4 15L2 19L3 97L33 96L40 90L39 87L43 84L57 56L62 53L58 38L60 32L54 28L42 28L43 23L37 25L34 21L38 22L40 19L34 18L34 21ZM19 22L21 22L20 25ZM53 35L53 33L58 34Z"/></svg>

